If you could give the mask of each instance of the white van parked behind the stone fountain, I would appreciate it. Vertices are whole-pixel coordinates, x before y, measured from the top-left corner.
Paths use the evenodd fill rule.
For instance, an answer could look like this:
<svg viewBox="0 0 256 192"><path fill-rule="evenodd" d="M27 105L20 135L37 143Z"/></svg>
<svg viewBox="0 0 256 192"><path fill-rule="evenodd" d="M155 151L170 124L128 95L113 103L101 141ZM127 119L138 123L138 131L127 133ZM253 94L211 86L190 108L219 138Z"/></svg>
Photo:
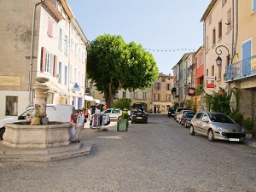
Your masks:
<svg viewBox="0 0 256 192"><path fill-rule="evenodd" d="M69 122L70 115L74 113L73 105L54 105L54 104L47 104L46 105L46 114L49 118L49 121L58 121L58 122ZM3 140L3 133L5 131L4 124L5 123L15 123L26 121L26 114L31 114L31 118L34 117L35 107L28 107L24 112L22 112L17 117L11 117L6 119L0 120L0 140Z"/></svg>

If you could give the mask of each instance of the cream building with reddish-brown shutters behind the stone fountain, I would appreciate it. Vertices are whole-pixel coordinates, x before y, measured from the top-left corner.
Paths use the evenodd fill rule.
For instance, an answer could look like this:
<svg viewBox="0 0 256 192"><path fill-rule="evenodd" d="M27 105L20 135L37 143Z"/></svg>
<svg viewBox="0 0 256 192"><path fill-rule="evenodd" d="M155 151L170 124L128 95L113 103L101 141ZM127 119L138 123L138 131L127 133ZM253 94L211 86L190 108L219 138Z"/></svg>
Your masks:
<svg viewBox="0 0 256 192"><path fill-rule="evenodd" d="M1 119L33 105L38 76L49 78L47 103L82 108L92 99L84 95L89 42L66 0L3 0L0 10Z"/></svg>

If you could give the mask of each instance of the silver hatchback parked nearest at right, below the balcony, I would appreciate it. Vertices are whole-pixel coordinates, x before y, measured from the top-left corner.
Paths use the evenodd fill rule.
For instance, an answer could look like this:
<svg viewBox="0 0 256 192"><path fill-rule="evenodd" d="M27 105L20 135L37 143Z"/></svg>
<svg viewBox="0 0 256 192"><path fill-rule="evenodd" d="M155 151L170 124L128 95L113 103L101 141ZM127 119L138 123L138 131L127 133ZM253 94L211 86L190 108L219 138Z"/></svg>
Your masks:
<svg viewBox="0 0 256 192"><path fill-rule="evenodd" d="M192 136L195 133L207 136L211 142L215 139L243 142L246 135L244 128L235 120L217 112L197 112L191 119L189 133Z"/></svg>

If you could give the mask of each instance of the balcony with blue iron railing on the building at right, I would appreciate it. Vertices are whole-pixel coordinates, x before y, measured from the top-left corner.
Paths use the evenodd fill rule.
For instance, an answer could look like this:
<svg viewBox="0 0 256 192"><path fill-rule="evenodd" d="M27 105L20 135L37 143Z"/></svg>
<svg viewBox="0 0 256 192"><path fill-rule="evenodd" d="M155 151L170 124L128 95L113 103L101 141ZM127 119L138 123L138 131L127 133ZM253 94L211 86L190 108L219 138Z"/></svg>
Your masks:
<svg viewBox="0 0 256 192"><path fill-rule="evenodd" d="M231 82L256 75L256 55L230 64L225 68L225 81Z"/></svg>

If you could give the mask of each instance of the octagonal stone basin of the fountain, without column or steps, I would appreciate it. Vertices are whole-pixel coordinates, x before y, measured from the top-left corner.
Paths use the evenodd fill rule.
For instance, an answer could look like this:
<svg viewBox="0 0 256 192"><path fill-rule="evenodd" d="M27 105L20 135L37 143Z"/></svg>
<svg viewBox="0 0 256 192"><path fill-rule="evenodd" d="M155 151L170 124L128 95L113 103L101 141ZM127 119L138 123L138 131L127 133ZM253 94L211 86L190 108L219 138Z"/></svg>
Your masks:
<svg viewBox="0 0 256 192"><path fill-rule="evenodd" d="M49 122L49 125L30 125L28 122L4 124L3 145L12 148L53 148L69 145L70 124Z"/></svg>

